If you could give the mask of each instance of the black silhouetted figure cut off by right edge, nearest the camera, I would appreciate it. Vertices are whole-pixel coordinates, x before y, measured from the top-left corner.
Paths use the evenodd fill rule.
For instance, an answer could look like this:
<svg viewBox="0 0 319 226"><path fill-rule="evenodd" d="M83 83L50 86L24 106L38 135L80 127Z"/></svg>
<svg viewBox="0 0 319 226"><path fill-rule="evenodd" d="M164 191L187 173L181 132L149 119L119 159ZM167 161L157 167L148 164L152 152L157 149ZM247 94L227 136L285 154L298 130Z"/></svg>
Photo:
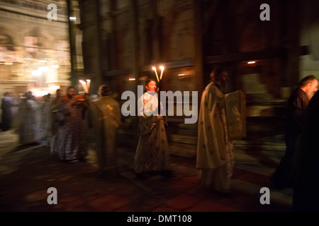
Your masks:
<svg viewBox="0 0 319 226"><path fill-rule="evenodd" d="M301 145L297 152L298 172L293 188L293 211L319 211L319 92L310 100Z"/></svg>

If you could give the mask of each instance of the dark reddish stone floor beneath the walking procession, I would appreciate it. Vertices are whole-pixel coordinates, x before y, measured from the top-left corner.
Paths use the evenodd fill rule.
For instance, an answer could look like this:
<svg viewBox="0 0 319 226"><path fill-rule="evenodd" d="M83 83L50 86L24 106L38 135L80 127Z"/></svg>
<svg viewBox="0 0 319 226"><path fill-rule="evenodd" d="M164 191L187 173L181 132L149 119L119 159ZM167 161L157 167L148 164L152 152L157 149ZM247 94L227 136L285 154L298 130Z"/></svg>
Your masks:
<svg viewBox="0 0 319 226"><path fill-rule="evenodd" d="M253 150L235 143L233 189L229 195L201 188L196 158L172 155L174 177L135 179L134 151L119 147L120 174L96 176L96 156L86 162L60 162L49 148L18 145L12 131L0 132L1 212L290 212L292 191L272 188L269 176L284 154L282 143L262 143ZM47 189L57 189L49 205ZM260 189L270 189L270 204L260 203Z"/></svg>

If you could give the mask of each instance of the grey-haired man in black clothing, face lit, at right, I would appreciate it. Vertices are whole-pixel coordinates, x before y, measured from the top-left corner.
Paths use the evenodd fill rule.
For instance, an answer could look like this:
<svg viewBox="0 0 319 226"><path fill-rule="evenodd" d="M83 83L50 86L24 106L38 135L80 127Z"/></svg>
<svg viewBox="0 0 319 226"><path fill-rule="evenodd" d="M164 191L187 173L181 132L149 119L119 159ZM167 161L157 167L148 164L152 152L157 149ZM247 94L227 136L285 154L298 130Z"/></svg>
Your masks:
<svg viewBox="0 0 319 226"><path fill-rule="evenodd" d="M272 175L272 182L276 189L293 187L296 177L296 150L301 139L306 109L309 100L317 90L317 78L307 76L298 83L298 87L289 97L286 109L286 153Z"/></svg>

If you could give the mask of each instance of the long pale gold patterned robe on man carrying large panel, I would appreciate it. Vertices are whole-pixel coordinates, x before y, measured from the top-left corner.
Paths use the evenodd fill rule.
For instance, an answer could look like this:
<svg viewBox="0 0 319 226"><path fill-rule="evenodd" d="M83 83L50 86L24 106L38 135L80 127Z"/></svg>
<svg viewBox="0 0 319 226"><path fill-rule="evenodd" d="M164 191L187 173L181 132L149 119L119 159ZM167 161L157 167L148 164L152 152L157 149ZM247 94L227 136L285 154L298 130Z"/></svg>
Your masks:
<svg viewBox="0 0 319 226"><path fill-rule="evenodd" d="M203 91L198 119L196 168L201 169L203 186L229 192L233 163L233 143L228 137L225 95L215 83L210 83Z"/></svg>

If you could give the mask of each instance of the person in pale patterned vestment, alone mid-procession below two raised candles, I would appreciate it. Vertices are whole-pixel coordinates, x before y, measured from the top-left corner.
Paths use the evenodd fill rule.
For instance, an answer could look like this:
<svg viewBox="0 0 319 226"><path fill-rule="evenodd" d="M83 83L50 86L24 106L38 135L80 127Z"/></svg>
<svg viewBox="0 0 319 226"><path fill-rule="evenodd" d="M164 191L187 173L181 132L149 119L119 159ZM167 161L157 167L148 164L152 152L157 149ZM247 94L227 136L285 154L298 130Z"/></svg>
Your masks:
<svg viewBox="0 0 319 226"><path fill-rule="evenodd" d="M157 83L148 80L146 93L138 101L140 106L139 141L135 153L135 173L138 179L145 179L146 173L159 173L164 177L172 174L169 164L169 145L162 115L158 109Z"/></svg>

